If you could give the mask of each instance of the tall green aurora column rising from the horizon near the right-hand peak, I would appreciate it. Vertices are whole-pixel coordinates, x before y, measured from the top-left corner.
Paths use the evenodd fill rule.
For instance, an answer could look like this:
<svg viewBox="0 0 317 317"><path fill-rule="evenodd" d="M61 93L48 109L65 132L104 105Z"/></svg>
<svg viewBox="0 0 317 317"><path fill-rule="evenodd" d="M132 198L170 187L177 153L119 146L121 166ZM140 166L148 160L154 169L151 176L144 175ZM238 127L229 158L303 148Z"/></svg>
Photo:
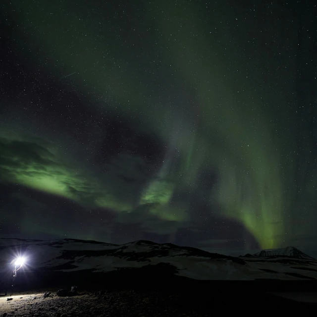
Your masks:
<svg viewBox="0 0 317 317"><path fill-rule="evenodd" d="M262 126L254 126L254 118L248 114L248 111L252 113L254 105L244 110L237 108L236 100L240 100L241 97L230 87L225 89L230 91L229 94L221 95L221 106L216 106L219 103L219 97L210 89L211 83L214 83L216 79L212 73L220 74L222 69L219 58L212 54L207 46L209 42L206 37L207 32L200 26L194 15L190 14L190 9L188 11L183 9L182 15L174 15L174 10L166 4L162 2L161 10L156 11L162 12L158 19L162 22L159 24L159 29L165 30L167 39L176 37L179 39L168 42L169 51L175 53L172 55L172 62L177 65L179 71L187 73L187 79L196 87L197 95L201 96L199 106L203 130L197 131L198 139L206 140L205 135L209 130L208 134L213 134L214 138L229 139L231 143L231 149L229 144L224 144L226 147L221 148L220 151L213 146L196 148L195 150L199 153L198 158L207 157L198 165L214 163L220 171L225 171L227 174L220 179L217 195L217 200L223 207L222 212L227 217L244 223L263 248L278 247L281 241L277 238L277 234L284 231L280 184L283 175L276 167L278 154L270 151L270 131L267 130L265 123ZM195 11L195 7L191 9ZM182 21L182 17L186 17L186 23ZM189 17L193 17L192 20ZM197 35L193 40L196 45L188 42L186 34L190 33ZM182 52L181 58L179 58L179 52ZM212 71L205 65L213 65ZM234 100L229 96L237 96L238 99ZM264 118L263 113L262 116ZM246 117L250 117L250 122L245 120ZM225 126L226 122L230 125L230 129ZM254 138L250 137L250 131L253 131ZM207 142L206 140L205 143ZM195 165L192 160L193 145L191 143L188 149L185 163L185 174L190 179L194 178L191 173L197 171L196 168L188 168L191 163ZM243 161L241 161L242 158ZM225 164L224 159L226 159ZM246 173L248 173L247 177ZM245 189L249 193L242 193Z"/></svg>

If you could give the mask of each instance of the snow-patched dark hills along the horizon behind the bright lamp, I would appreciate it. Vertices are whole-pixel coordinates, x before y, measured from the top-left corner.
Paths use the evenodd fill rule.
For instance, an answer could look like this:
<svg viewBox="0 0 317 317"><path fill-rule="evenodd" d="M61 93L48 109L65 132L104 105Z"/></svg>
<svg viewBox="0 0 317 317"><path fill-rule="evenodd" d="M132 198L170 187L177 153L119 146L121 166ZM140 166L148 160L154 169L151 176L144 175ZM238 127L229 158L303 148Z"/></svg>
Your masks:
<svg viewBox="0 0 317 317"><path fill-rule="evenodd" d="M297 250L297 249L296 249ZM287 251L291 255L295 251ZM296 253L299 254L299 250ZM140 272L156 268L196 280L317 279L317 261L308 257L230 257L170 243L134 241L115 245L96 241L0 239L0 274L18 254L24 272ZM278 254L279 255L279 254Z"/></svg>

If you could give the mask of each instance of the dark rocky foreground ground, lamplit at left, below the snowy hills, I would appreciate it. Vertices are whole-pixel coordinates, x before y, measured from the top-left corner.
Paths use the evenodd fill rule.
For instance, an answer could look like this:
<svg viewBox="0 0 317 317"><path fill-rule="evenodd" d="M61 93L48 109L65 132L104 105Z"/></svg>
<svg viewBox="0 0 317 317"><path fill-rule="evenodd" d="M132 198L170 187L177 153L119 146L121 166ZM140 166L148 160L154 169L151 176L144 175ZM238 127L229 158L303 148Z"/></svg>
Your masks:
<svg viewBox="0 0 317 317"><path fill-rule="evenodd" d="M56 295L58 289L70 290L70 282L75 280L77 296ZM126 283L122 276L116 283L107 283L101 275L87 275L85 278L65 276L62 280L55 277L54 283L51 280L54 287L20 283L15 286L12 300L7 300L10 296L0 297L0 316L195 317L258 314L274 309L282 309L284 313L303 309L316 312L317 309L315 281L159 281L154 278L151 282L145 279L133 282L134 287L132 281ZM51 292L47 298L46 291Z"/></svg>

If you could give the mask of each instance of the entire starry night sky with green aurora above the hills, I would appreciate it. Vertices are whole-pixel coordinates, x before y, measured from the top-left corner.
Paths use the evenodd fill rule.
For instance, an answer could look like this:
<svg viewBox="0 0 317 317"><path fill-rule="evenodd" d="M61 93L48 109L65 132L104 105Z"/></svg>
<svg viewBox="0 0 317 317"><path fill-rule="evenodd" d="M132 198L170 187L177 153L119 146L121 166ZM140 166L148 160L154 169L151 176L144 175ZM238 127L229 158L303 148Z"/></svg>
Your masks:
<svg viewBox="0 0 317 317"><path fill-rule="evenodd" d="M0 236L317 249L313 1L0 5Z"/></svg>

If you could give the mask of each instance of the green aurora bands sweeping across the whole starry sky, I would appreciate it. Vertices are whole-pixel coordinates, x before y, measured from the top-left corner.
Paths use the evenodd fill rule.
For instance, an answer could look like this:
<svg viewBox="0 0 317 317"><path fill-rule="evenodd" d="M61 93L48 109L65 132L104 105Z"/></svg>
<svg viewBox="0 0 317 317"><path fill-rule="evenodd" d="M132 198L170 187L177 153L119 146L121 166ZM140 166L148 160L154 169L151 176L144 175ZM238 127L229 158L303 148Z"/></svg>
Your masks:
<svg viewBox="0 0 317 317"><path fill-rule="evenodd" d="M309 146L303 174L312 171L309 177L294 176L298 149L291 140L298 139L298 132L292 129L296 119L281 123L277 131L273 122L282 119L283 114L274 105L265 103L264 93L256 93L257 76L242 67L234 72L225 63L221 43L228 38L234 42L234 35L230 36L225 29L219 29L218 33L206 30L197 18L204 13L193 2L185 1L186 6L182 7L172 2L144 4L148 13L145 22L154 30L149 37L157 34L149 43L142 43L144 50L155 50L154 43L162 47L157 58L171 66L165 77L182 78L195 92L191 109L174 106L171 112L159 92L146 84L146 75L136 70L137 66L133 68L136 60L130 56L133 51L124 49L124 38L116 37L113 30L106 32L114 22L103 22L101 18L93 21L90 4L86 3L87 12L83 12L76 6L68 7L67 1L58 4L40 1L36 6L32 5L33 1L13 1L31 50L36 48L41 58L56 61L47 64L49 70L56 72L58 67L63 74L76 71L79 74L74 76L76 84L88 96L107 96L112 101L108 106L113 110L139 117L170 145L171 152L167 151L157 179L144 189L140 206L147 205L148 212L160 219L189 221L186 204L170 203L174 190L195 191L202 167L216 168L219 183L210 198L221 206L221 215L241 221L262 248L280 247L294 228L297 233L304 233L300 224L290 229L289 215L316 193L317 172L316 168L311 169ZM65 6L64 10L61 5ZM220 23L221 14L218 15L213 17L215 24ZM22 32L17 36L22 36ZM101 36L103 45L98 40ZM220 48L213 43L218 43ZM293 46L295 49L296 43ZM235 56L231 62L232 68L237 68L242 65L242 57ZM270 79L274 81L273 76ZM288 84L295 91L295 84L291 81ZM176 84L174 87L177 89ZM270 99L283 103L284 97L273 94ZM195 117L194 122L191 117ZM301 131L301 134L309 139L309 132ZM288 141L283 136L289 136ZM18 138L10 139L2 134L0 151L6 153L3 155L6 160L1 160L1 168L6 171L2 177L5 181L118 213L133 209L132 197L125 201L117 199L110 184L105 188L89 171L71 167L49 147L34 149L33 159L24 161L25 156L17 156L16 148L21 147L18 142ZM32 147L36 144L29 144L27 151ZM180 165L174 164L172 149L177 149ZM9 159L13 154L15 157ZM294 203L292 197L298 188L305 188L305 192L300 197L297 195Z"/></svg>

